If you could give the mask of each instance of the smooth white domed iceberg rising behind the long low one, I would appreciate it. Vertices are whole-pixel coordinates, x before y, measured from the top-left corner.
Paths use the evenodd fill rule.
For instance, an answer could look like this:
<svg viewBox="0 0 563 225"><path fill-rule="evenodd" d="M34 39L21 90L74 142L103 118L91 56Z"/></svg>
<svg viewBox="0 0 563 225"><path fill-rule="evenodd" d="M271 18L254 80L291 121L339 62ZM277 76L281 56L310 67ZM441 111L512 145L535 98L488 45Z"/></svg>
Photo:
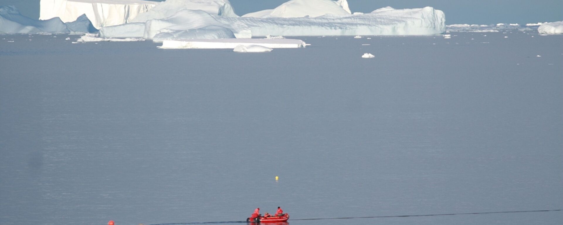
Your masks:
<svg viewBox="0 0 563 225"><path fill-rule="evenodd" d="M273 10L262 10L251 12L243 15L243 17L317 17L326 14L332 15L350 15L350 8L346 0L338 2L332 0L291 0L281 4Z"/></svg>

